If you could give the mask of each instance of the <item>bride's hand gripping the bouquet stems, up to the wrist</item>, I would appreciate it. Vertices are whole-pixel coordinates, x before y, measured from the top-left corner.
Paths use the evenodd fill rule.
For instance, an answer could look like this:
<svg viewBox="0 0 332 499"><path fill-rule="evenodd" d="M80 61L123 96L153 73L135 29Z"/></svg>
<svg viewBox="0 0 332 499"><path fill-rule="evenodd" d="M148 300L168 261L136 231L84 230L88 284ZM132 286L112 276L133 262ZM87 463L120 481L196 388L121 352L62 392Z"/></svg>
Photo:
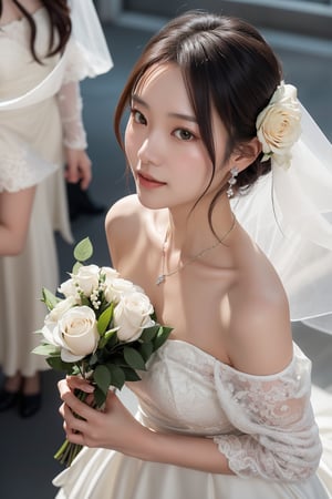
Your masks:
<svg viewBox="0 0 332 499"><path fill-rule="evenodd" d="M63 428L69 441L142 457L152 431L132 416L114 393L108 393L104 409L93 409L89 404L93 400L94 388L84 379L68 376L58 386L63 400L59 411L64 419ZM85 403L77 399L75 389L89 394Z"/></svg>

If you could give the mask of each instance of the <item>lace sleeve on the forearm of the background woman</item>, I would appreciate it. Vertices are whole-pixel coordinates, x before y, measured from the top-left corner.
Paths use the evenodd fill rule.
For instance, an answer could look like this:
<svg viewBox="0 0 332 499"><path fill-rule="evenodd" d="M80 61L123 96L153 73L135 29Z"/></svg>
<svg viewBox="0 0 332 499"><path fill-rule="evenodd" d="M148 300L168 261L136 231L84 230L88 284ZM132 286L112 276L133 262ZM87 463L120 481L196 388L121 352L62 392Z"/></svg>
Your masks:
<svg viewBox="0 0 332 499"><path fill-rule="evenodd" d="M63 143L70 149L86 149L86 134L82 121L82 98L79 82L64 83L58 102L63 126Z"/></svg>

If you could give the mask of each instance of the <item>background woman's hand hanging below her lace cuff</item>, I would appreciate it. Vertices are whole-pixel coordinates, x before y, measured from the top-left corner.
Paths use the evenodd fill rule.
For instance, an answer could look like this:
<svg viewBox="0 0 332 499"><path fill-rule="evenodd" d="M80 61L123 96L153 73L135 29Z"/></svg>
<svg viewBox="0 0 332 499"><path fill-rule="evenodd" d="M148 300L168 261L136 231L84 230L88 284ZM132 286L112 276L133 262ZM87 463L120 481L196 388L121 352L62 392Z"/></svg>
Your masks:
<svg viewBox="0 0 332 499"><path fill-rule="evenodd" d="M92 179L92 163L84 150L65 149L66 171L65 179L68 182L75 184L81 182L81 189L85 191Z"/></svg>

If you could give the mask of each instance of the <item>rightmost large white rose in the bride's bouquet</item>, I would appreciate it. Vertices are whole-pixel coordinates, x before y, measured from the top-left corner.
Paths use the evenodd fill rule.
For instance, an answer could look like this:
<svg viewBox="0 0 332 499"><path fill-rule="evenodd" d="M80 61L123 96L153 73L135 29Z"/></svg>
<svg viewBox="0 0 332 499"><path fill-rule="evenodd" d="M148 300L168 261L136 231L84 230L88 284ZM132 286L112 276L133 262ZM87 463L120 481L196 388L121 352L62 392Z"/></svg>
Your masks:
<svg viewBox="0 0 332 499"><path fill-rule="evenodd" d="M148 297L137 291L123 294L114 308L114 325L118 327L117 337L122 342L139 338L143 328L153 326L151 318L154 308Z"/></svg>

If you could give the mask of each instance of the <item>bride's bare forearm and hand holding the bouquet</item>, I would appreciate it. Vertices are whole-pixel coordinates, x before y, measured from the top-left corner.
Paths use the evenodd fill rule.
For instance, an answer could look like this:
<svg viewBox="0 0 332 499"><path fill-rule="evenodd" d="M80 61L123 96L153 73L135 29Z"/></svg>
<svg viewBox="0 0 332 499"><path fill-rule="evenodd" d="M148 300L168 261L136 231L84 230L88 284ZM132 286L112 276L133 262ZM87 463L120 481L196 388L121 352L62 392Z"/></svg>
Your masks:
<svg viewBox="0 0 332 499"><path fill-rule="evenodd" d="M114 449L145 461L232 473L212 439L152 431L141 425L113 393L108 394L103 411L92 409L73 395L75 388L89 393L93 389L77 377L68 377L59 383L64 401L60 414L64 418L64 429L70 441ZM83 420L77 419L74 413Z"/></svg>

